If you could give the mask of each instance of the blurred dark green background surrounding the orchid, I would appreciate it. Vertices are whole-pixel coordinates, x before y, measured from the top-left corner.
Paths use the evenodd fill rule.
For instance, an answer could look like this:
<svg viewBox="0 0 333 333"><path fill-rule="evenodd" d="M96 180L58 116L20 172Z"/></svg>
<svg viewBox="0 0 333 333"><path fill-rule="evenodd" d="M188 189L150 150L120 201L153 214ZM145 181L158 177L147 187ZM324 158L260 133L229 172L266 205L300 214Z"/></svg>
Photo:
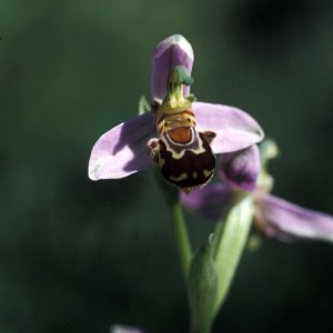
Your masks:
<svg viewBox="0 0 333 333"><path fill-rule="evenodd" d="M276 140L275 193L333 214L330 0L0 1L0 332L185 332L170 215L151 170L87 176L100 134L150 94L150 56L182 33L201 101ZM213 225L188 215L199 244ZM264 240L214 332L333 329L333 246Z"/></svg>

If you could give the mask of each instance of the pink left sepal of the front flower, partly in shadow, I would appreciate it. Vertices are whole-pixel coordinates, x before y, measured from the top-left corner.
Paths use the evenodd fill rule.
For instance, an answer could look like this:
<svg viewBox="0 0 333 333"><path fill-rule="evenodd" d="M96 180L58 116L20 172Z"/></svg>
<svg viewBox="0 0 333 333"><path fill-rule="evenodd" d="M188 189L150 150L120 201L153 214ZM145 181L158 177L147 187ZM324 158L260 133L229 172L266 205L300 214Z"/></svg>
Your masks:
<svg viewBox="0 0 333 333"><path fill-rule="evenodd" d="M89 160L89 178L117 179L152 164L147 142L155 134L152 112L123 122L104 133L94 144Z"/></svg>

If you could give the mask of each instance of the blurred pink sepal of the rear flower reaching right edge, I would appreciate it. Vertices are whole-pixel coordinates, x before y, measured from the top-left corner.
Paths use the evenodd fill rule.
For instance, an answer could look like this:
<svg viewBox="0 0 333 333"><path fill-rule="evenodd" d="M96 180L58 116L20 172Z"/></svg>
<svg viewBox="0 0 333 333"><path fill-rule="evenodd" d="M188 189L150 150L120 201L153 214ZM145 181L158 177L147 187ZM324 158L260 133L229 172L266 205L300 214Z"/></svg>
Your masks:
<svg viewBox="0 0 333 333"><path fill-rule="evenodd" d="M259 195L264 231L279 239L333 241L333 216L304 209L271 194Z"/></svg>

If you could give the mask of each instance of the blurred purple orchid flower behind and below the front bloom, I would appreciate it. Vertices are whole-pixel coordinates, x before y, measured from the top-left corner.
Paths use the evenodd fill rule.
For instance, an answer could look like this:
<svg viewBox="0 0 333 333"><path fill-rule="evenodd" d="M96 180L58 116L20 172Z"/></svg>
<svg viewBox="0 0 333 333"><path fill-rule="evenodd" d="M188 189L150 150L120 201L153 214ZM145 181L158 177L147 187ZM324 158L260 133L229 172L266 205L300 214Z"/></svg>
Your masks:
<svg viewBox="0 0 333 333"><path fill-rule="evenodd" d="M222 157L222 182L210 184L190 195L181 195L190 210L218 221L232 203L243 195L254 199L253 221L268 236L282 241L312 239L333 241L333 216L315 212L270 194L273 180L265 170L276 149L268 143L262 149L262 167L256 145ZM259 175L256 180L256 175Z"/></svg>

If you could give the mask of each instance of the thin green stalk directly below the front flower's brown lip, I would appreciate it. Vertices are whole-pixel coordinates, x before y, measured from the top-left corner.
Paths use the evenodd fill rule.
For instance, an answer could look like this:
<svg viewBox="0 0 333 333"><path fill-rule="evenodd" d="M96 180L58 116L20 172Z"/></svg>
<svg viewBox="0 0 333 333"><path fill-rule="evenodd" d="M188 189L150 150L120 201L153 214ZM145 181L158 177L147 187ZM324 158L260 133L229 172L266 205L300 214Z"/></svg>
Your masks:
<svg viewBox="0 0 333 333"><path fill-rule="evenodd" d="M183 271L184 279L186 280L190 264L191 264L191 259L192 259L192 250L191 250L185 219L180 202L174 202L171 204L171 212L173 218L173 228L175 232L175 240L176 240L178 250L180 254L182 271Z"/></svg>

